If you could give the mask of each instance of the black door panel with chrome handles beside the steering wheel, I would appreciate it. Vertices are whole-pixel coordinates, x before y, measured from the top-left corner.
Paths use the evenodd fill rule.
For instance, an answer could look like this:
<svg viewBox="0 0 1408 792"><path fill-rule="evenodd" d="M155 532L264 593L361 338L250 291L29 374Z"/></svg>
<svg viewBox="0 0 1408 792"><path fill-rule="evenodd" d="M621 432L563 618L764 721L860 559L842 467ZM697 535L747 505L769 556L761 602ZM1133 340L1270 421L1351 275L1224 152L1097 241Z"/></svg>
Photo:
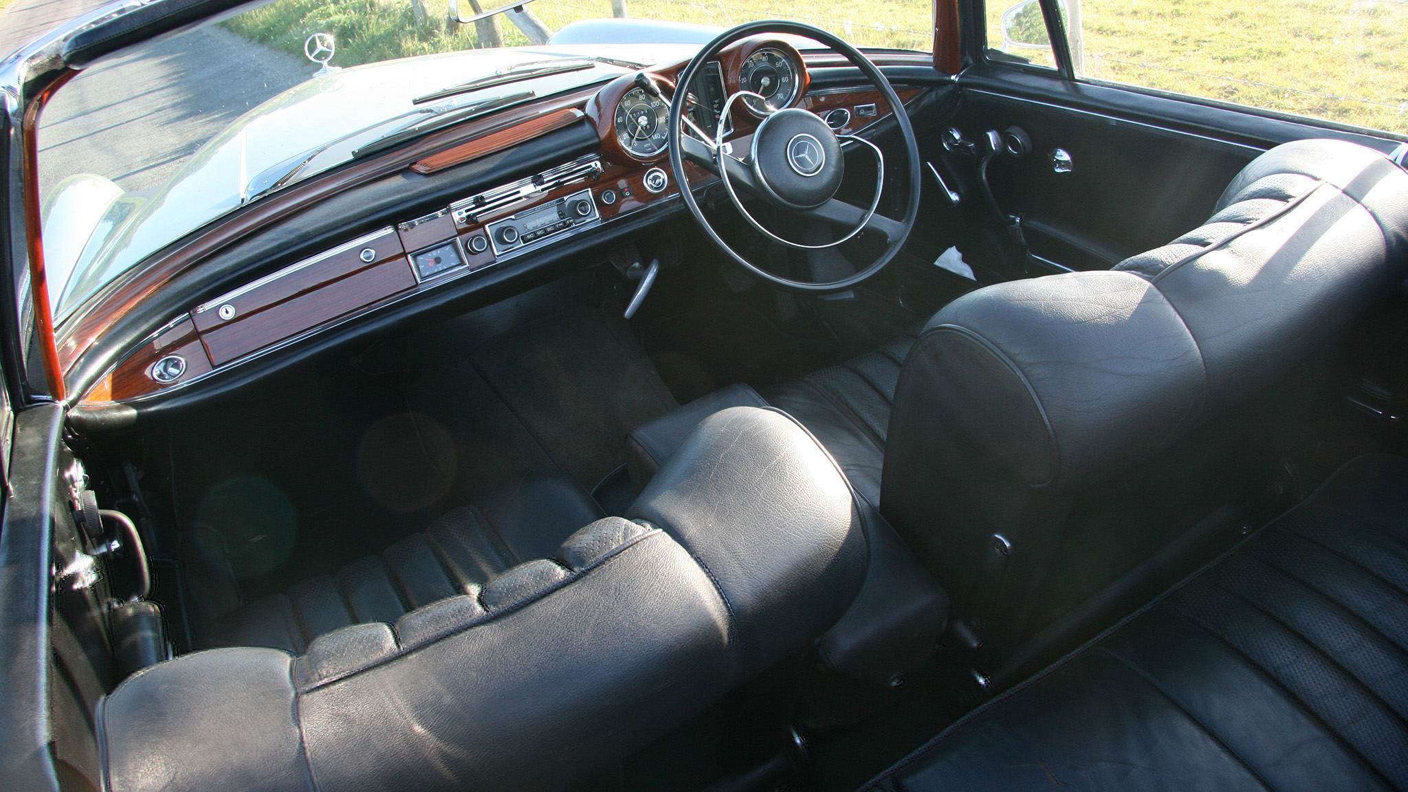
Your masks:
<svg viewBox="0 0 1408 792"><path fill-rule="evenodd" d="M1107 269L1201 225L1228 182L1259 154L1290 140L1336 137L1390 151L1395 141L1056 73L979 63L959 78L953 127L977 144L945 152L977 183L987 130L1022 128L1032 152L998 155L988 183L1002 214L1021 218L1029 273ZM1069 154L1070 172L1052 154ZM977 202L973 202L977 203ZM991 211L984 220L997 224Z"/></svg>

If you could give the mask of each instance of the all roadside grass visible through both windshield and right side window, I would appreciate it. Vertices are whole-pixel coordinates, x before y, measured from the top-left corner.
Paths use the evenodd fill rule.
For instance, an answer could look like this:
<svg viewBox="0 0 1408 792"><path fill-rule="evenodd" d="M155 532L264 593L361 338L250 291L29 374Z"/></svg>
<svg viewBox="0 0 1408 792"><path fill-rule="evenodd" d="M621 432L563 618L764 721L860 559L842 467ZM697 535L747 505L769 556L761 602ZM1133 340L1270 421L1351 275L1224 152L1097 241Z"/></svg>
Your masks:
<svg viewBox="0 0 1408 792"><path fill-rule="evenodd" d="M783 17L862 47L932 47L926 0L627 3L632 17L719 27ZM420 27L410 0L279 0L224 24L300 56L308 34L332 32L339 66L477 47L474 25L444 18L444 0L425 4L429 20ZM988 8L994 47L1001 42L998 18L1007 7L1005 0L995 0ZM529 8L553 30L611 16L610 0L538 0ZM1084 0L1081 14L1091 78L1408 134L1408 3ZM1024 21L1041 32L1039 20ZM504 44L528 44L504 17L500 28ZM1050 63L1049 52L1018 54Z"/></svg>

